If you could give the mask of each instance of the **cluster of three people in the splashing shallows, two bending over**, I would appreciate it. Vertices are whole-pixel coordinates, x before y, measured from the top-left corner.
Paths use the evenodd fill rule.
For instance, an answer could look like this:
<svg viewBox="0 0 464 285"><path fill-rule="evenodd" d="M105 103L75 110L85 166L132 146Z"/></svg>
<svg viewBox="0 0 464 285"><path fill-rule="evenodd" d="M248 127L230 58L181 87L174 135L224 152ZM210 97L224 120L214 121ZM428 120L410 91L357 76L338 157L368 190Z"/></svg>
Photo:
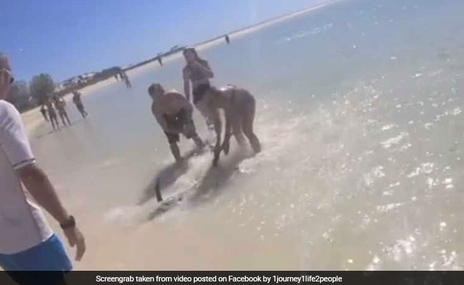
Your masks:
<svg viewBox="0 0 464 285"><path fill-rule="evenodd" d="M192 139L197 147L203 148L205 145L198 137L193 123L191 94L193 105L205 118L208 129L213 129L216 134L213 165L218 164L221 152L228 155L232 135L241 146L245 145L245 135L254 152L261 152L261 143L253 132L256 112L253 95L248 90L236 86L211 86L210 79L214 77L214 73L208 61L200 58L195 48L184 49L183 56L186 60L186 66L182 71L185 97L176 90L164 90L160 83L153 83L148 88L148 94L153 100L151 112L166 134L176 161L183 160L177 144L180 135ZM226 121L223 140L220 109L223 110Z"/></svg>

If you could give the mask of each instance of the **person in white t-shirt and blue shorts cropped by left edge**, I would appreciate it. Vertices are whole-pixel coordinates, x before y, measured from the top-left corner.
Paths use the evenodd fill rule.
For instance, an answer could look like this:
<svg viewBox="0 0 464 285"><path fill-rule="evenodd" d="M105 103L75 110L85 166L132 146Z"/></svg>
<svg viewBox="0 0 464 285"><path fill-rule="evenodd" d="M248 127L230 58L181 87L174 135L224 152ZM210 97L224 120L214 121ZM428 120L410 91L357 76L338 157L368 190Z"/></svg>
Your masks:
<svg viewBox="0 0 464 285"><path fill-rule="evenodd" d="M9 61L0 53L0 266L20 284L56 284L72 264L43 212L29 197L59 222L69 244L77 249L76 260L81 260L86 244L74 217L36 164L18 110L5 100L13 81ZM37 280L41 275L15 272L31 270L54 271L46 275L53 275L53 283L51 279L41 283Z"/></svg>

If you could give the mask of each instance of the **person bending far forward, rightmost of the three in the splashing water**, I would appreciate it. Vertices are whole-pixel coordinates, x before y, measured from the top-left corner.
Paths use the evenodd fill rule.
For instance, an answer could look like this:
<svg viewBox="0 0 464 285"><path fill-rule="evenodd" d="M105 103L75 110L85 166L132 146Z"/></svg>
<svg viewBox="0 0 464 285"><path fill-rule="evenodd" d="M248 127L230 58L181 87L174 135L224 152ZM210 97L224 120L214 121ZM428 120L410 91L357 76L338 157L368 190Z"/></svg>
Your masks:
<svg viewBox="0 0 464 285"><path fill-rule="evenodd" d="M243 134L251 144L255 153L261 152L261 143L253 132L253 120L255 119L256 102L253 95L248 90L234 86L221 88L221 92L207 95L208 108L211 112L217 112L218 109L224 110L226 116L226 132L221 145L221 128L215 126L216 130L216 147L214 150L213 165L218 164L219 155L223 150L228 155L229 142L233 135L238 144L243 146L245 139ZM221 124L221 120L215 120L216 124Z"/></svg>

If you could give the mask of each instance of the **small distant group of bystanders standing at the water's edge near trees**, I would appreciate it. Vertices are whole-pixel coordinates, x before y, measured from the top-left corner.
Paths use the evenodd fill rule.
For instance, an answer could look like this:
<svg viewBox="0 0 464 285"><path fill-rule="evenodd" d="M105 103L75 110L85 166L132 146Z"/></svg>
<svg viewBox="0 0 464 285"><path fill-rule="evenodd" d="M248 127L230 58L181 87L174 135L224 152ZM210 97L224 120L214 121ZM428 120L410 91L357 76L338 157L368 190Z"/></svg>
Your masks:
<svg viewBox="0 0 464 285"><path fill-rule="evenodd" d="M77 110L79 110L79 113L81 113L82 118L86 118L89 114L84 109L84 104L81 100L81 93L79 91L73 92L73 102L74 105L76 105ZM58 115L60 116L61 122L63 122L64 126L71 125L68 112L66 111L66 101L58 95L55 95L53 98L47 98L45 102L41 105L40 113L42 113L44 119L47 122L51 123L51 127L54 130L60 128L58 116L56 115L56 113L58 113Z"/></svg>

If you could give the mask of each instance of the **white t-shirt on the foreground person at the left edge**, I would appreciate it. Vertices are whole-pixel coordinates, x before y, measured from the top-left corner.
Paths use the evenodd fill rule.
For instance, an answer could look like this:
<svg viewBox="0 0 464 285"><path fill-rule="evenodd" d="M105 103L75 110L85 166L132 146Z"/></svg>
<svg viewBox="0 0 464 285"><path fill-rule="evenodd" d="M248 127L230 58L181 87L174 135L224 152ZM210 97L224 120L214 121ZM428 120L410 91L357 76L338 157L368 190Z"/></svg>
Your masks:
<svg viewBox="0 0 464 285"><path fill-rule="evenodd" d="M30 249L53 234L16 175L15 170L33 163L18 110L0 100L0 254Z"/></svg>

